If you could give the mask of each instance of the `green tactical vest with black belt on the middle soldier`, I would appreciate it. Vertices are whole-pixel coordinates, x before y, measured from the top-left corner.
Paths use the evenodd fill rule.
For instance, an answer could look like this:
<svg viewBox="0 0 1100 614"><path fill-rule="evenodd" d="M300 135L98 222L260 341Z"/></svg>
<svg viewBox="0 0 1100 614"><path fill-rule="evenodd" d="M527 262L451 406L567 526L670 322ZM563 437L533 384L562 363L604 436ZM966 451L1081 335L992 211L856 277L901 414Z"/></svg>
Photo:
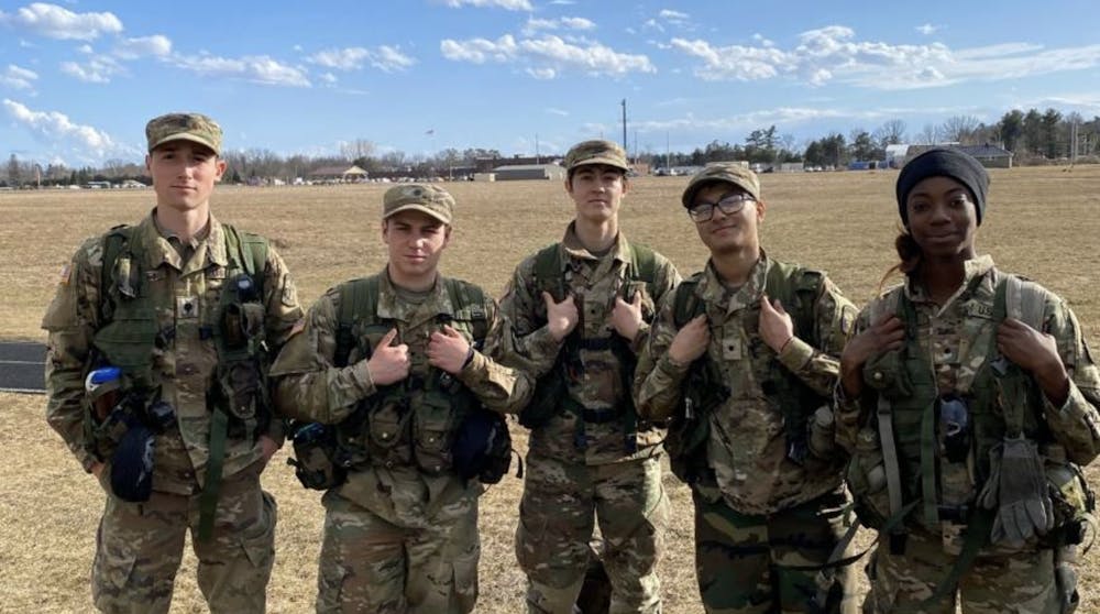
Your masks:
<svg viewBox="0 0 1100 614"><path fill-rule="evenodd" d="M561 248L560 243L552 243L542 248L535 254L535 287L540 292L547 292L554 300L564 300L566 296L565 282L561 270ZM642 282L646 290L653 296L657 278L657 255L641 244L629 243L630 261L626 265L626 278L628 282ZM623 299L634 300L634 296L626 296L628 285L624 284ZM546 320L541 303L536 301L536 317ZM582 316L583 317L583 316ZM616 360L622 365L623 390L630 391L634 382L634 370L638 362L637 357L630 351L626 339L617 333L612 333L607 339L583 339L583 320L578 322L573 331L565 338L564 347L559 354L554 368L539 377L536 383L535 394L531 403L519 414L519 424L536 429L546 426L551 418L562 410L576 415L576 432L573 440L578 449L583 450L587 446L584 436L585 415L588 418L607 421L603 416L595 416L592 412L585 410L569 395L569 382L576 373L583 369L580 360L581 350L601 351L610 350ZM612 419L620 419L624 427L624 449L627 453L634 453L638 449L638 412L634 406L634 397L629 393L623 399L623 409L617 412Z"/></svg>

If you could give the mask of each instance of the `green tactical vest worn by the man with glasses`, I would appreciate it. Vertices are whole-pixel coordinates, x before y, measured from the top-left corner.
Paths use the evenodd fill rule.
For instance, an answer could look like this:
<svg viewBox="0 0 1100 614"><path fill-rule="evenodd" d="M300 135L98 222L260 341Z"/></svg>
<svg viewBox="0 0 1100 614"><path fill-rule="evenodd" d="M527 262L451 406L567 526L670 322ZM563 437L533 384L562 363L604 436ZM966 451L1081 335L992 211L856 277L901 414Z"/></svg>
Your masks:
<svg viewBox="0 0 1100 614"><path fill-rule="evenodd" d="M700 283L706 272L698 272L684 279L673 296L673 324L676 330L692 318L705 313L706 305L698 296ZM794 324L799 339L814 338L814 305L822 293L825 275L812 268L771 261L765 282L765 294L778 299ZM756 309L758 307L754 307ZM761 341L758 338L758 341ZM754 348L754 352L770 351ZM773 353L773 352L772 352ZM802 463L806 456L806 427L813 410L827 399L793 376L779 362L778 355L769 361L768 376L761 382L762 392L778 396L783 412L787 457ZM682 384L684 406L673 415L664 449L669 454L672 473L688 484L712 481L712 470L706 459L706 442L711 437L710 414L729 398L718 365L704 353L688 370Z"/></svg>

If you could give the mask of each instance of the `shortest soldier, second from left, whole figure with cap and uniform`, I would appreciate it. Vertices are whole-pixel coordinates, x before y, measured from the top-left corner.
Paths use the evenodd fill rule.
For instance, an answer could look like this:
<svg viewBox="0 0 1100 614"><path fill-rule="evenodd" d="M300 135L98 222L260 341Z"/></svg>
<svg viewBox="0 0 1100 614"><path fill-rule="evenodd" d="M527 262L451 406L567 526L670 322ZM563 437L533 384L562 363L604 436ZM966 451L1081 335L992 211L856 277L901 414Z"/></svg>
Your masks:
<svg viewBox="0 0 1100 614"><path fill-rule="evenodd" d="M453 205L430 185L386 191L386 267L321 296L272 370L283 415L337 425L341 440L361 445L344 463L345 480L321 500L319 613L458 614L477 599L484 487L452 465L466 412L459 402L472 393L492 410L515 413L531 385L472 343L470 314L490 333L504 326L495 301L438 273ZM350 288L363 284L376 289L361 301L374 304L354 306ZM358 313L350 353L340 349L349 306Z"/></svg>

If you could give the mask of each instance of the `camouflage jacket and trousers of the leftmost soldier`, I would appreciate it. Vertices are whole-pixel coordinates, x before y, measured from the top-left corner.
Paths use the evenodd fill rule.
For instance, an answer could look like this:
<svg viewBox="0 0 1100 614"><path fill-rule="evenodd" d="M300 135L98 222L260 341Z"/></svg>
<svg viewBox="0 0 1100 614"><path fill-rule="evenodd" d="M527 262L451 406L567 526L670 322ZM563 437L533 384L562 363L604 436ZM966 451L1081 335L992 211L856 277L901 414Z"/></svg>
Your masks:
<svg viewBox="0 0 1100 614"><path fill-rule="evenodd" d="M184 533L198 526L196 502L206 480L211 421L206 392L218 357L212 341L199 339L197 322L207 309L217 308L229 264L224 230L212 216L206 237L194 245L186 262L157 231L153 215L134 232L146 245L144 270L150 275L150 292L169 295L157 303L179 305L177 299L190 299L198 313L188 318L175 310L156 314L162 329L175 330L167 351L154 352L153 366L162 380L161 398L176 410L177 427L156 437L152 500L139 505L110 495L107 498L92 570L92 591L97 604L105 604L105 612L156 612L161 600L167 611ZM82 425L84 374L89 368L92 337L106 324L99 321L98 313L102 249L103 237L96 237L77 250L42 321L48 331L46 420L85 470L103 460L85 449ZM283 260L274 248L267 254L264 324L274 352L300 319L301 308ZM280 442L282 431L273 425L275 430L268 435ZM213 539L196 545L202 561L199 585L215 611L219 610L217 604L226 605L221 611L264 611L275 514L274 500L260 490L262 458L258 441L230 438L226 442ZM105 468L102 483L107 484L109 474ZM264 509L270 507L270 513L261 513L261 498L267 502ZM245 550L241 550L242 542ZM119 562L119 557L127 560ZM124 564L131 566L127 568L129 577L120 575Z"/></svg>

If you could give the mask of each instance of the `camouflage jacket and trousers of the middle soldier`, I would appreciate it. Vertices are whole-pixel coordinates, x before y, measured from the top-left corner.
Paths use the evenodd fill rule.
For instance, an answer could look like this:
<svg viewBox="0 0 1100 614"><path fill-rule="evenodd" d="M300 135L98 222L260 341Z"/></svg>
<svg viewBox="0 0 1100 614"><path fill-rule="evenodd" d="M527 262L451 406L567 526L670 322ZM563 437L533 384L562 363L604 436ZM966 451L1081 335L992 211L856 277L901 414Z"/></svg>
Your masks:
<svg viewBox="0 0 1100 614"><path fill-rule="evenodd" d="M610 324L616 296L626 288L641 296L644 324L630 350L637 352L648 338L656 301L671 295L680 283L675 267L654 254L652 294L644 282L631 282L627 265L631 249L620 233L602 257L588 252L571 223L559 243L561 278L566 293L576 297L584 339L616 335ZM501 357L531 376L542 376L563 359L562 343L553 340L546 324L546 287L535 275L536 256L525 259L509 282L501 310L513 325L508 351ZM622 408L630 394L625 390L615 353L581 350L582 376L566 382L570 397L591 409ZM528 574L529 612L571 613L588 562L593 515L608 544L605 567L612 584L612 612L659 612L660 584L653 570L661 551L667 501L660 482L659 458L664 430L640 424L637 450L625 445L622 419L584 424L584 449L576 446L578 420L563 410L531 431L527 478L517 553ZM617 467L622 465L622 467ZM613 504L614 502L614 504ZM565 511L565 513L562 513ZM553 520L553 530L543 525ZM560 526L564 523L566 526ZM526 527L535 527L529 530ZM553 535L554 541L539 539ZM620 604L620 605L616 605ZM627 604L635 604L634 606Z"/></svg>

